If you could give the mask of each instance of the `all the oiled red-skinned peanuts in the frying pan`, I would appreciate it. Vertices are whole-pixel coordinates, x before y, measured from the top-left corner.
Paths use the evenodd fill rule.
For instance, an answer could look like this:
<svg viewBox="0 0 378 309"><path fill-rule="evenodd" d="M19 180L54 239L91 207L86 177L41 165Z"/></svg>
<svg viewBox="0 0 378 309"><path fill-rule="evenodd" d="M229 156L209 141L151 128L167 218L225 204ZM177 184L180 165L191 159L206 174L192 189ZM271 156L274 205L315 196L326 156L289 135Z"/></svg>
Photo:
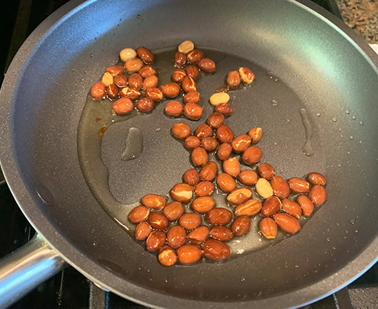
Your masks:
<svg viewBox="0 0 378 309"><path fill-rule="evenodd" d="M179 101L170 101L165 107L166 115L177 117L184 113L188 119L201 119L203 108L198 104L200 93L196 80L199 70L214 73L216 65L204 58L201 50L194 49L191 41L179 45L174 58L177 69L172 75L173 82L162 84L160 88L157 88L157 71L151 67L154 59L151 51L145 47L139 47L136 52L123 49L120 57L124 67L109 67L102 82L98 82L102 86L93 85L93 98L107 95L113 99L109 93L114 92L114 87L110 85L115 84L117 89L122 89L119 91L122 98L114 102L113 111L124 115L133 111L133 101L140 98L143 88L144 98L137 101L136 108L147 113L164 97L176 98L182 89L184 106ZM124 69L132 73L129 80ZM172 266L177 261L192 264L202 256L214 261L227 259L231 250L225 242L234 236L244 236L251 226L250 217L258 214L260 233L267 239L276 238L278 227L285 233L297 233L300 230L298 219L311 216L314 208L326 200L326 179L322 174L312 172L307 176L308 181L297 177L286 181L277 176L268 163L257 165L263 155L255 145L262 137L261 128L251 128L247 134L234 137L232 129L224 124L226 117L233 113L228 104L228 91L237 89L241 82L252 84L254 79L254 73L247 67L230 71L226 84L210 96L214 113L205 124L200 124L193 133L187 124L172 126L173 136L191 151L194 168L187 170L183 182L170 190L173 201L168 203L164 196L147 194L141 200L142 205L129 213L130 222L137 225L135 240L145 241L146 249L157 252L164 266ZM209 161L209 152L216 152L223 172L219 173L216 161ZM249 168L242 170L241 163ZM227 194L225 203L234 207L234 214L225 207L216 207L212 198L215 187ZM256 198L252 188L258 195Z"/></svg>

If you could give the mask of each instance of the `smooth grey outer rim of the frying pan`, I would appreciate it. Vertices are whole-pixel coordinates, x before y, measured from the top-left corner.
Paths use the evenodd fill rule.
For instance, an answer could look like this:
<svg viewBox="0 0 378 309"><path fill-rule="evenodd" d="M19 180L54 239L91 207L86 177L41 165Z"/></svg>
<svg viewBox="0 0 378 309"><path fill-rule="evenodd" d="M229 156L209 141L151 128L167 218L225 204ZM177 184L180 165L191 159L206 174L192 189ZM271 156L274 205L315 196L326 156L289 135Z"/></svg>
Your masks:
<svg viewBox="0 0 378 309"><path fill-rule="evenodd" d="M355 48L359 49L366 60L375 67L378 73L378 55L375 54L368 44L360 38L353 30L351 30L342 21L337 19L336 16L327 12L320 6L312 3L309 0L287 0L293 5L298 5L304 10L316 14L320 19L326 21L330 27L334 27L338 32L342 33L346 39L348 39ZM34 203L32 196L30 196L27 188L23 184L21 174L17 168L16 161L13 158L13 150L11 144L12 130L10 127L10 115L12 112L12 102L14 101L14 93L16 93L18 86L18 77L23 73L23 65L27 62L28 58L33 56L38 44L43 41L49 33L53 32L56 27L63 23L69 16L78 13L87 5L96 2L96 0L73 0L66 3L61 8L56 10L53 14L47 17L41 25L38 25L36 30L30 34L25 43L19 49L16 56L12 60L12 63L5 75L3 85L0 91L0 117L3 120L1 122L2 136L1 148L0 148L0 163L3 170L5 179L10 187L10 190L16 199L21 211L26 216L31 225L41 233L47 243L56 250L64 260L66 260L71 266L74 266L80 273L87 278L96 282L99 286L111 290L111 292L120 295L131 301L135 301L138 304L149 306L153 308L162 308L163 306L177 307L178 304L184 307L208 307L217 306L219 308L227 308L232 303L230 302L214 302L214 301L198 301L191 299L184 299L180 297L174 297L171 295L163 295L153 290L147 290L142 286L132 284L122 279L118 275L115 275L110 270L101 266L97 262L91 260L91 258L80 251L80 249L74 247L64 236L60 235L58 230L48 223L47 218ZM257 299L252 301L239 301L235 302L238 306L275 306L280 304L282 307L300 307L307 304L311 304L313 301L322 299L337 290L340 290L344 286L353 282L360 275L370 268L375 262L377 262L377 250L378 250L378 238L373 240L368 246L348 265L342 268L336 275L335 273L326 277L322 282L315 282L308 286L304 286L298 290L291 291L284 295L277 295L275 297L269 297L267 299ZM98 278L101 278L98 279ZM332 286L330 291L329 286ZM170 301L169 301L170 300ZM299 304L298 304L299 303ZM154 305L151 305L154 304ZM170 305L171 304L171 305Z"/></svg>

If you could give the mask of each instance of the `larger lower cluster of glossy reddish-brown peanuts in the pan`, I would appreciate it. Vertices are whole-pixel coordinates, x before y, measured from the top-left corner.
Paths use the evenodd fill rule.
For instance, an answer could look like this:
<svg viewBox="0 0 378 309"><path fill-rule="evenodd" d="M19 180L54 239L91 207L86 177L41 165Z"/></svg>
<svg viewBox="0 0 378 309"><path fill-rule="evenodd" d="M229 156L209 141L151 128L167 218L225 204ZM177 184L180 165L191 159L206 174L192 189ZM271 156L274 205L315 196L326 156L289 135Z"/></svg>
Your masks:
<svg viewBox="0 0 378 309"><path fill-rule="evenodd" d="M167 204L163 196L147 194L142 205L129 214L129 220L138 224L135 239L146 240L148 251L159 251L159 262L164 266L172 266L177 260L192 264L202 255L214 261L227 259L231 251L225 242L245 235L251 225L250 217L257 214L261 216L260 232L267 239L276 238L278 227L289 234L297 233L298 219L311 216L314 207L326 200L326 179L320 173L311 172L308 181L297 177L286 181L276 176L268 163L257 165L257 172L252 168L242 171L236 156L241 157L244 165L256 165L263 152L254 144L260 141L263 130L252 128L247 134L234 137L224 121L223 114L212 113L207 124L200 124L193 134L187 124L174 124L172 133L192 152L194 168L184 173L184 182L170 190L174 201ZM209 161L208 152L216 148L222 173L215 161ZM236 180L241 186L237 186ZM216 207L212 198L214 182L227 194L225 203L234 207L234 214ZM253 198L252 187L258 198ZM190 204L192 212L185 212L183 204ZM201 216L210 227L202 225Z"/></svg>

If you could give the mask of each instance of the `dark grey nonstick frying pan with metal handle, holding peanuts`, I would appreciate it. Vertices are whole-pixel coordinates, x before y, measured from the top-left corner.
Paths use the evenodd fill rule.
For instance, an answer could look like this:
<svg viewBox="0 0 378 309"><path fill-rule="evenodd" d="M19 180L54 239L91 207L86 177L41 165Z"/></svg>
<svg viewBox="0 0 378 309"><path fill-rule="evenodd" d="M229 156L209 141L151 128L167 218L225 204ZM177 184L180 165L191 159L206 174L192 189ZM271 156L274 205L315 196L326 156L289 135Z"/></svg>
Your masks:
<svg viewBox="0 0 378 309"><path fill-rule="evenodd" d="M164 268L130 236L126 216L144 194L166 195L181 181L189 154L170 127L184 121L194 129L201 121L170 119L165 104L148 115L113 117L110 102L87 102L87 94L124 47L153 49L159 81L168 81L185 39L217 62L217 73L199 81L202 119L227 71L250 67L256 82L231 93L226 124L237 135L262 127L262 160L286 179L321 172L328 198L296 236L263 240L256 218L248 236L231 244L227 262ZM65 262L153 307L293 307L346 286L377 260L377 65L361 38L305 0L63 6L23 44L1 88L1 168L38 231L1 264L1 306ZM300 108L311 126L311 156L302 149ZM140 131L143 151L125 161L131 128Z"/></svg>

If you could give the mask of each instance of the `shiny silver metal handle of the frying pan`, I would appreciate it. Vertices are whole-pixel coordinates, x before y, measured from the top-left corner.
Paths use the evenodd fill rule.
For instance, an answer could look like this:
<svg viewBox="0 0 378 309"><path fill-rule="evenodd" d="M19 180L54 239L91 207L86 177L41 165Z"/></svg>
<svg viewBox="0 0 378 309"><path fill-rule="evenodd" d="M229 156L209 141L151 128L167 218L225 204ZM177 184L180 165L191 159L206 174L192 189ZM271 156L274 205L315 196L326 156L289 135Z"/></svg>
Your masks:
<svg viewBox="0 0 378 309"><path fill-rule="evenodd" d="M38 233L0 260L0 308L6 308L41 284L66 263Z"/></svg>

